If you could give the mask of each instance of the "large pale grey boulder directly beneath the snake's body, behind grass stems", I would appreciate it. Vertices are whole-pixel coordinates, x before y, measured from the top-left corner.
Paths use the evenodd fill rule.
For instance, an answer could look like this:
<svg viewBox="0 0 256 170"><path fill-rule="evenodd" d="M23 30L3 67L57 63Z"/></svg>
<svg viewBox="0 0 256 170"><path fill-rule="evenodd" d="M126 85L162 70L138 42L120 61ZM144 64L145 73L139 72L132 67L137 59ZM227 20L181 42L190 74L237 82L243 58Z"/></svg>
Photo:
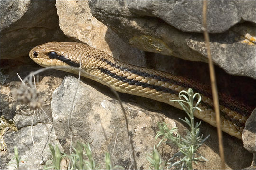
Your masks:
<svg viewBox="0 0 256 170"><path fill-rule="evenodd" d="M67 123L77 83L78 80L73 76L66 76L60 87L54 91L51 102L55 132L65 152L68 152L70 147L71 132ZM159 140L155 140L157 122L165 121L169 124L169 128L175 127L175 122L163 115L157 115L155 112L139 109L128 103L123 104L128 117L129 133L132 134L136 148L137 166L146 168L149 166L146 154L151 151L154 144L157 144L157 141L159 142ZM114 165L129 167L130 163L128 162L133 158L124 115L117 100L80 82L70 126L73 132L73 141L89 142L94 159L99 164L105 164L104 154L109 149L110 154L114 150L112 156ZM107 139L104 137L102 128L106 132ZM163 149L164 153L168 154L169 146L166 145ZM120 157L120 155L122 156Z"/></svg>

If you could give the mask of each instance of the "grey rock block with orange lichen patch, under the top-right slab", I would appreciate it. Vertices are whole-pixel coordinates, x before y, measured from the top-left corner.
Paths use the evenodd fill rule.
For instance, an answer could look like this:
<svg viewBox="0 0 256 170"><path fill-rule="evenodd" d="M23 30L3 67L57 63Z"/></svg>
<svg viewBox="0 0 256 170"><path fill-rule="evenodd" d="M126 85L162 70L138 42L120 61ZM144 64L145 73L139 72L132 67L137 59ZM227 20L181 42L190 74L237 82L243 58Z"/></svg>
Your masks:
<svg viewBox="0 0 256 170"><path fill-rule="evenodd" d="M255 34L255 26L251 24L237 24L225 33L210 34L210 50L213 62L227 73L255 79L255 44L245 39L246 30ZM207 56L202 36L192 35L185 41L192 50Z"/></svg>

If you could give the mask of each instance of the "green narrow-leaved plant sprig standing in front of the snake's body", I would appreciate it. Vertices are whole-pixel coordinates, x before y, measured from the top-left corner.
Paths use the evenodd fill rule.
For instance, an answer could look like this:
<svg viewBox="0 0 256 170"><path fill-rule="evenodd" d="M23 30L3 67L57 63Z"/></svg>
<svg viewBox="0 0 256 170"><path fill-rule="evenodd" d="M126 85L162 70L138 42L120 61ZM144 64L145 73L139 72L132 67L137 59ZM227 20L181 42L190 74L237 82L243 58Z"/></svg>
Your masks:
<svg viewBox="0 0 256 170"><path fill-rule="evenodd" d="M185 93L185 94L183 94ZM184 99L182 99L182 97ZM201 95L199 93L193 92L191 88L188 89L188 91L181 91L179 93L179 98L177 100L170 100L171 102L178 101L179 104L182 106L183 110L187 113L188 118L185 118L184 121L188 126L190 127L190 131L186 130L186 136L181 137L179 133L177 133L178 128L174 127L172 129L169 129L165 122L158 123L159 131L157 132L155 138L157 139L160 136L163 136L157 147L166 139L166 143L174 143L179 148L179 152L174 154L173 157L171 157L168 161L170 161L169 167L175 167L178 169L193 169L192 162L197 164L197 161L201 161L201 159L208 161L206 158L204 158L202 155L197 153L198 148L203 144L203 142L210 136L208 135L206 138L203 139L203 135L200 136L200 124L196 123L194 125L194 111L197 109L201 111L201 109L198 106L199 102L201 101ZM197 98L197 102L194 105L194 99ZM180 119L180 118L179 118ZM174 136L173 133L176 132L177 135ZM199 157L196 157L196 155L199 155ZM174 158L177 158L178 161L172 163L171 161L174 160ZM151 163L152 164L152 163Z"/></svg>

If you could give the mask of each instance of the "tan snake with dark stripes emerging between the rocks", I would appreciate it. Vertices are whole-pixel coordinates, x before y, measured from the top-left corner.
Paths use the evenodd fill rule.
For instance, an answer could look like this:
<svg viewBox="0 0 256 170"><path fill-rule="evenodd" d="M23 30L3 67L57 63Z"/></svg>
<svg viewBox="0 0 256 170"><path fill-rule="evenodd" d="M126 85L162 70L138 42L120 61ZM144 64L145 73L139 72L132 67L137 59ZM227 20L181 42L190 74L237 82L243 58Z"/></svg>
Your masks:
<svg viewBox="0 0 256 170"><path fill-rule="evenodd" d="M177 101L170 100L178 99L182 90L192 88L195 93L201 94L198 104L201 111L195 110L194 116L216 127L211 89L194 80L127 64L104 51L78 42L48 42L31 49L29 56L42 67L67 66L55 69L74 74L79 74L77 68L81 63L81 76L108 84L118 92L150 98L181 110ZM224 94L219 94L219 103L221 130L241 139L251 110Z"/></svg>

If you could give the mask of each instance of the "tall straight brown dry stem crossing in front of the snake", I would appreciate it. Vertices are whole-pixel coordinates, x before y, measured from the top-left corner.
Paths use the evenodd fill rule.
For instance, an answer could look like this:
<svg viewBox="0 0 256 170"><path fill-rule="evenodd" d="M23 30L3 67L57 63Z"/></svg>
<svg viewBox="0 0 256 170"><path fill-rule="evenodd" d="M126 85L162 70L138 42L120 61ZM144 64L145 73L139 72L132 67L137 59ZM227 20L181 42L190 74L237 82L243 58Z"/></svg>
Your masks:
<svg viewBox="0 0 256 170"><path fill-rule="evenodd" d="M203 1L203 34L206 42L206 49L207 49L207 56L208 56L208 63L209 63L209 70L210 70L210 81L211 81L211 90L212 90L212 97L213 97L213 104L214 110L216 115L216 127L218 133L218 140L219 140L219 153L221 158L221 169L225 169L225 158L224 158L224 148L223 148L223 140L222 140L222 131L220 126L220 113L219 113L219 99L218 99L218 92L217 92L217 85L216 85L216 78L214 72L214 66L210 54L210 42L209 42L209 34L207 31L207 0Z"/></svg>

